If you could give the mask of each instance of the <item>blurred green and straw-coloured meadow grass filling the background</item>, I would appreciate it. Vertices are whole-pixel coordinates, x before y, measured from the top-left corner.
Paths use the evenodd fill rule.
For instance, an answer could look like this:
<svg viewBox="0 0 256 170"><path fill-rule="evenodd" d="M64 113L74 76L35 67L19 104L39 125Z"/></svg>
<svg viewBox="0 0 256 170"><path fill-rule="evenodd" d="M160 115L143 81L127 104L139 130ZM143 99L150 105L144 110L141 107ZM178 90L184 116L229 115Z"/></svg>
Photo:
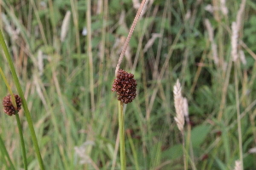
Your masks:
<svg viewBox="0 0 256 170"><path fill-rule="evenodd" d="M45 169L120 169L119 116L111 88L136 2L2 2L1 30ZM137 98L124 106L126 169L184 169L183 153L188 169L230 170L239 167L238 160L243 169L256 168L250 151L256 147L256 3L247 0L242 11L242 2L148 1L144 6L120 65L137 80ZM240 23L236 62L232 22ZM0 67L17 93L3 53ZM174 120L177 79L189 104L184 138ZM9 92L3 79L0 84L3 99ZM0 169L22 168L17 124L2 105L0 113ZM40 169L23 109L19 116L28 169Z"/></svg>

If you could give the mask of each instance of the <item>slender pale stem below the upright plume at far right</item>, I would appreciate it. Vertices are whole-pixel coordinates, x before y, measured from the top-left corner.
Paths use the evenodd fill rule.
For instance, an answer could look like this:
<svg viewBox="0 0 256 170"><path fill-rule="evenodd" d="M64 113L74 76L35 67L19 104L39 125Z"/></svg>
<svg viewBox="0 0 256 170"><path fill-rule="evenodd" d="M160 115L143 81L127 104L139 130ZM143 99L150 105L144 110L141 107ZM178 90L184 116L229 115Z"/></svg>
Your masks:
<svg viewBox="0 0 256 170"><path fill-rule="evenodd" d="M238 132L238 142L239 142L239 157L241 161L241 170L243 170L243 160L242 160L242 140L241 140L241 115L239 106L239 94L238 94L238 75L237 75L237 65L235 62L235 86L236 86L236 113L237 113L237 132Z"/></svg>

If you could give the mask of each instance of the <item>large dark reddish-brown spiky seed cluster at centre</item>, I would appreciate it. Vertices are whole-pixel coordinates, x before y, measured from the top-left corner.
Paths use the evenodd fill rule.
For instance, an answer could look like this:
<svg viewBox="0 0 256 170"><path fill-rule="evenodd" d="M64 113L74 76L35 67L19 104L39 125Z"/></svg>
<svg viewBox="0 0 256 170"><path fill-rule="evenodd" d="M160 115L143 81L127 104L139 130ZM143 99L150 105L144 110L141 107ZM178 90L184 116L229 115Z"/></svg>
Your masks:
<svg viewBox="0 0 256 170"><path fill-rule="evenodd" d="M137 82L134 75L119 69L117 78L114 79L112 91L118 94L118 99L125 104L131 103L136 97Z"/></svg>

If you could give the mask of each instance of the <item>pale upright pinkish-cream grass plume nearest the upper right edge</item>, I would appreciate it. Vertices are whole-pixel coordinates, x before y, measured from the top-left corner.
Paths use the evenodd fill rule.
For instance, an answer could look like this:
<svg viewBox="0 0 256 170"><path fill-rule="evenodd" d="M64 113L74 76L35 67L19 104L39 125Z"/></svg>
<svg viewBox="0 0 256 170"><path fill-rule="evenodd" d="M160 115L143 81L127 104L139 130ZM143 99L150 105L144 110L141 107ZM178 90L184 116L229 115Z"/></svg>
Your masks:
<svg viewBox="0 0 256 170"><path fill-rule="evenodd" d="M231 56L233 58L233 61L236 62L236 60L238 59L238 53L237 53L238 29L237 29L236 22L232 22L231 30L232 30Z"/></svg>

